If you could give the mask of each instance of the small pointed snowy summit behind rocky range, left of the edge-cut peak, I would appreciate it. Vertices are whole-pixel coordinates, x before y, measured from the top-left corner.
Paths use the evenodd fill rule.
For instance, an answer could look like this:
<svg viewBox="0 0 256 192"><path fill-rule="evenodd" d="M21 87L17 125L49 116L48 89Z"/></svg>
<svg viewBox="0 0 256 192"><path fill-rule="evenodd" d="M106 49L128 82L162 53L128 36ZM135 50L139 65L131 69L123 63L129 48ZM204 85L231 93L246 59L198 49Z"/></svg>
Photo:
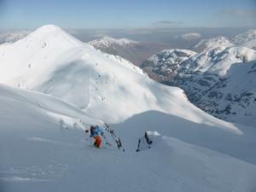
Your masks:
<svg viewBox="0 0 256 192"><path fill-rule="evenodd" d="M224 36L220 36L218 38L203 39L198 44L196 44L193 49L195 49L198 52L201 52L202 50L230 46L233 46L233 44L230 43L230 40L228 38L225 38Z"/></svg>

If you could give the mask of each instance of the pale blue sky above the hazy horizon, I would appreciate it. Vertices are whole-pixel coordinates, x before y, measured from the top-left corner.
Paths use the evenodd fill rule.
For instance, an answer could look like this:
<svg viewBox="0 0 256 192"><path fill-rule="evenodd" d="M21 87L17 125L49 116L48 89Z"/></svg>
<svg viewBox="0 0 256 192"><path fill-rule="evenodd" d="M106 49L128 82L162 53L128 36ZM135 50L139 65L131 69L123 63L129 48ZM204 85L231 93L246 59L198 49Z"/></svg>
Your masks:
<svg viewBox="0 0 256 192"><path fill-rule="evenodd" d="M255 0L0 0L1 29L256 27Z"/></svg>

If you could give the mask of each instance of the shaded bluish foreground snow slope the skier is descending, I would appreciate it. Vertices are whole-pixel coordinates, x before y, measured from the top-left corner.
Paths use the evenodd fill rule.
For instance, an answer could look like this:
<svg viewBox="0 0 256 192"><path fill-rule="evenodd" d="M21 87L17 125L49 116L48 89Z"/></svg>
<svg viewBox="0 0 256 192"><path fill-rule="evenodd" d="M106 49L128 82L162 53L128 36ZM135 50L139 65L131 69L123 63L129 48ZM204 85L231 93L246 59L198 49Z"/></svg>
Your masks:
<svg viewBox="0 0 256 192"><path fill-rule="evenodd" d="M89 147L84 128L102 122L55 97L0 85L0 105L0 186L6 192L255 189L256 134L249 127L229 131L141 113L110 125L123 153L114 146ZM153 145L137 153L137 138L147 130Z"/></svg>

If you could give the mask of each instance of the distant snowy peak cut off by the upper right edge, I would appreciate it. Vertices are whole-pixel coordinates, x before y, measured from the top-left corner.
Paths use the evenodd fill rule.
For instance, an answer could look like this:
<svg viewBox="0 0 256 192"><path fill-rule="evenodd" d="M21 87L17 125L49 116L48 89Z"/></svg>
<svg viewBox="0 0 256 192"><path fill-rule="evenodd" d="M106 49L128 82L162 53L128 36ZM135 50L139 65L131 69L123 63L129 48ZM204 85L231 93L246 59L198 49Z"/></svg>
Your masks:
<svg viewBox="0 0 256 192"><path fill-rule="evenodd" d="M256 49L256 30L249 30L237 35L232 39L232 43L236 44L236 46Z"/></svg>

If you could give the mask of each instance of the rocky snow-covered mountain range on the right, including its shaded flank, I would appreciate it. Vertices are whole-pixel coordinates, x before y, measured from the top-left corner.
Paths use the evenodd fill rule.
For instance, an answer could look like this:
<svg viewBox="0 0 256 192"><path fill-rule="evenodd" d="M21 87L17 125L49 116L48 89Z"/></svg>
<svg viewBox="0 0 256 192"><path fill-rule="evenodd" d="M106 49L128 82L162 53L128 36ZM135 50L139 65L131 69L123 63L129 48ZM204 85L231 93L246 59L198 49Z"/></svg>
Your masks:
<svg viewBox="0 0 256 192"><path fill-rule="evenodd" d="M190 102L219 119L256 125L256 30L162 50L143 62L149 77L181 87Z"/></svg>

